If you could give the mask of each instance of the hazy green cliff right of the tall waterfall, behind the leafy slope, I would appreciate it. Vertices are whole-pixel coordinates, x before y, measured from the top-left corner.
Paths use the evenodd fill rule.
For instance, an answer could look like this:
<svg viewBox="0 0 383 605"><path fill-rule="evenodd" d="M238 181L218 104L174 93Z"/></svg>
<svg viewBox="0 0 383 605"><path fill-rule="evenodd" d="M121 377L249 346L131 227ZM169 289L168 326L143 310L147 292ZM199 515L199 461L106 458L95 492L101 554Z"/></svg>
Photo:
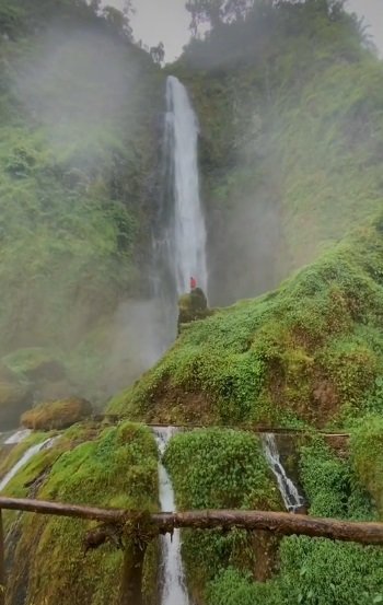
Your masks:
<svg viewBox="0 0 383 605"><path fill-rule="evenodd" d="M256 1L176 66L201 121L218 304L272 288L380 208L382 65L339 5Z"/></svg>

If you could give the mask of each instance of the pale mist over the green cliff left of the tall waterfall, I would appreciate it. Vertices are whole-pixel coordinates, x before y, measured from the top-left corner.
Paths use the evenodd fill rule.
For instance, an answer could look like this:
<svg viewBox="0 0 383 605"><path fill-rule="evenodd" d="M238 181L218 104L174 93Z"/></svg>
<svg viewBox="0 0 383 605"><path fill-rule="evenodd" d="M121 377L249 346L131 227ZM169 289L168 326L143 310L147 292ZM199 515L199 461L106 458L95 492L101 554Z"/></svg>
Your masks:
<svg viewBox="0 0 383 605"><path fill-rule="evenodd" d="M138 177L156 144L151 66L103 26L55 24L12 73L22 120L13 130L7 195L18 199L20 220L10 213L7 242L18 237L22 246L10 243L3 252L19 269L9 284L2 350L44 349L66 368L60 388L36 389L36 397L67 392L102 405L160 354L144 235L151 197ZM144 203L148 217L138 223Z"/></svg>

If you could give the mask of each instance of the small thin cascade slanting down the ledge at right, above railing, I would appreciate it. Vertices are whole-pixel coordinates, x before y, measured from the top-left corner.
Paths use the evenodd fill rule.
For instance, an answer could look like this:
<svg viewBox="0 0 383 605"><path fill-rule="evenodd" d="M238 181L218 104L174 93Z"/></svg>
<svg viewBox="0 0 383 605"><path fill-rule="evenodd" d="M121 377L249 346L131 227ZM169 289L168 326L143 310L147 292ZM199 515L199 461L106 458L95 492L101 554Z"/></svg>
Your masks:
<svg viewBox="0 0 383 605"><path fill-rule="evenodd" d="M262 437L265 456L270 465L272 473L278 481L279 491L285 502L285 507L290 512L298 511L304 504L292 480L287 476L280 462L276 438L272 433L265 433Z"/></svg>

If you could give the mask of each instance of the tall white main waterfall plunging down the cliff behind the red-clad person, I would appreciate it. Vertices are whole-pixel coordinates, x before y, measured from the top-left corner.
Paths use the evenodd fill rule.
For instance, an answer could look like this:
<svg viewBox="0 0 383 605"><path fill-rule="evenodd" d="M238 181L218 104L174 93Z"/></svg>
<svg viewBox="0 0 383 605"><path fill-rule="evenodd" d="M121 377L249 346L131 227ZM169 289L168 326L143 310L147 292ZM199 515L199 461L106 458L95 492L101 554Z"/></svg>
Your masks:
<svg viewBox="0 0 383 605"><path fill-rule="evenodd" d="M153 233L153 298L162 319L155 350L160 357L176 334L177 298L193 276L208 293L206 224L199 195L198 120L185 86L166 80L161 201Z"/></svg>

